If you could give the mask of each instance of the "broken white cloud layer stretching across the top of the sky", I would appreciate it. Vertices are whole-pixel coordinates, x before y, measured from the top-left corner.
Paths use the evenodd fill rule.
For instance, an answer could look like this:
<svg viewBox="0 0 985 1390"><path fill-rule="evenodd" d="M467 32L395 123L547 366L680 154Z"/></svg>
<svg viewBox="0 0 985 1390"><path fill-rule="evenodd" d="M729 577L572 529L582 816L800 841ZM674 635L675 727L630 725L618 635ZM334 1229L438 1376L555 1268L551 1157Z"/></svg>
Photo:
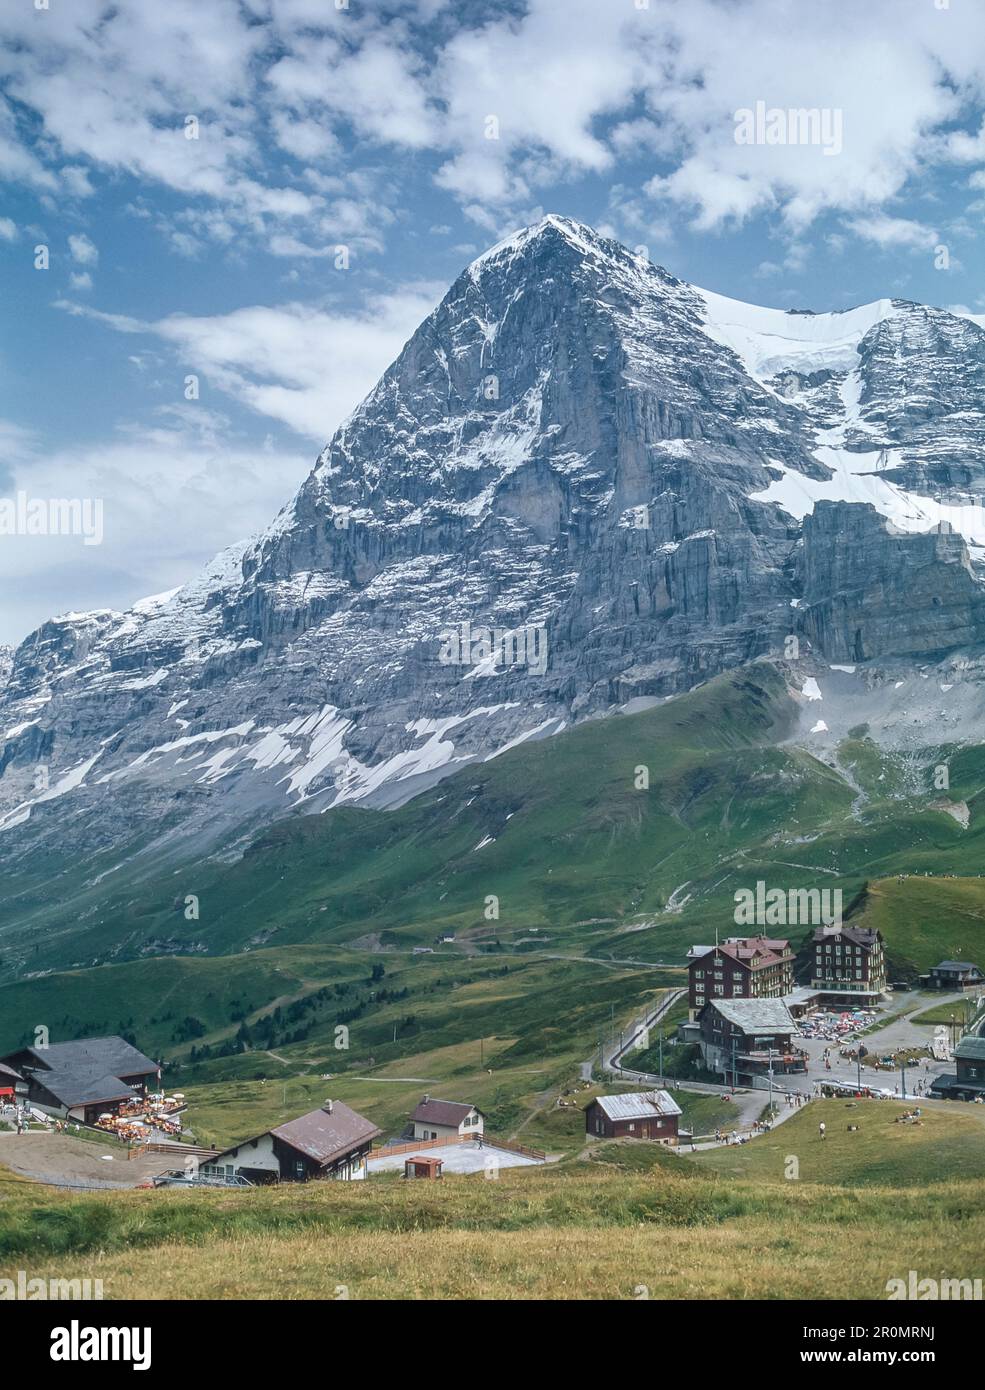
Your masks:
<svg viewBox="0 0 985 1390"><path fill-rule="evenodd" d="M57 24L36 18L0 13L0 81L19 103L0 108L0 174L74 196L92 168L165 185L186 199L182 254L245 234L322 254L350 195L318 178L357 163L372 185L368 147L432 152L439 186L489 231L558 181L629 182L622 161L654 225L672 210L706 229L775 214L803 232L828 211L864 225L931 157L985 181L972 4L379 0L357 15L324 0L74 0ZM760 100L838 113L841 153L736 145L736 110ZM43 122L33 147L15 110ZM354 202L379 249L392 199L367 186Z"/></svg>

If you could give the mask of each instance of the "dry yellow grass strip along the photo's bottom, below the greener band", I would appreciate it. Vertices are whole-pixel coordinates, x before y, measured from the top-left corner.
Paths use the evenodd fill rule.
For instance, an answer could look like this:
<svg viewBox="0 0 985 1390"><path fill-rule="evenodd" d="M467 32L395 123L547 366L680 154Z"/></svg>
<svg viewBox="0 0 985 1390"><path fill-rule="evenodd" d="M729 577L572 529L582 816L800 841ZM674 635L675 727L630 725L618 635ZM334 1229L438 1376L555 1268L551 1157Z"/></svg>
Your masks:
<svg viewBox="0 0 985 1390"><path fill-rule="evenodd" d="M739 1218L715 1227L250 1234L207 1245L31 1264L99 1277L106 1298L632 1300L885 1298L886 1280L981 1269L985 1219L938 1227L804 1227Z"/></svg>

